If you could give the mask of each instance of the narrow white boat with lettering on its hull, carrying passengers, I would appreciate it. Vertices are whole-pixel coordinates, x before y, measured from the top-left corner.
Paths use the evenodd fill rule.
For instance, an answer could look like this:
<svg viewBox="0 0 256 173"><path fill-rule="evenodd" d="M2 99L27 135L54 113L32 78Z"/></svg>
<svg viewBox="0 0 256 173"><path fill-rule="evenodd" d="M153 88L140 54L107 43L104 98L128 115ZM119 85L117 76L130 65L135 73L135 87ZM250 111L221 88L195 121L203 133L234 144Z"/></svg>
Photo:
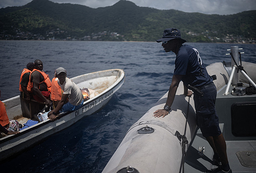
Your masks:
<svg viewBox="0 0 256 173"><path fill-rule="evenodd" d="M77 111L59 114L57 120L53 122L48 119L21 130L17 135L8 135L1 138L0 160L12 156L45 137L71 126L82 117L91 115L102 109L112 98L113 94L123 85L125 73L121 69L103 70L73 77L71 80L80 89L89 88L98 92L98 95L85 101L84 106ZM22 124L28 120L22 117L20 96L4 100L3 103L7 105L9 119L16 119L20 123L23 122Z"/></svg>

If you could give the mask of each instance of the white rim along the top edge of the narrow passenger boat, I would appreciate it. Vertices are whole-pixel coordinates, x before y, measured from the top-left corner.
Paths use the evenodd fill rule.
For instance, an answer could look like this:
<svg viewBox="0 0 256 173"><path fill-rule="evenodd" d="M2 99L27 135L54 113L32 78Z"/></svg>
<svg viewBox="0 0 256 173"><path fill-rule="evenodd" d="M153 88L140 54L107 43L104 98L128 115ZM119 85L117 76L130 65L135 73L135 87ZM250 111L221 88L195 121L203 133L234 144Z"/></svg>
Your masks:
<svg viewBox="0 0 256 173"><path fill-rule="evenodd" d="M117 77L118 77L117 80L116 80L111 86L109 86L106 90L102 91L100 94L98 94L98 95L95 96L94 98L85 101L85 102L83 103L83 105L90 104L90 103L94 102L94 101L97 100L99 97L101 97L102 95L106 94L109 90L112 90L113 88L115 88L116 86L118 86L118 85L125 79L125 73L124 73L124 70L122 70L122 69L110 69L110 70L103 70L103 71L111 71L111 70L119 70L119 71L121 71L121 73L119 73L119 75L117 76ZM103 71L98 71L98 72L103 72ZM97 73L97 72L93 72L93 73ZM87 73L87 74L90 74L90 73ZM123 77L122 77L122 74L123 74ZM77 77L80 77L80 76L82 76L82 75L79 75L79 76L77 76ZM122 78L121 78L121 77L122 77ZM72 78L71 78L71 79L72 79ZM120 79L120 80L118 81L118 79ZM61 119L62 117L64 117L65 115L68 115L68 114L70 114L70 113L72 113L72 112L74 112L74 111L67 111L67 112L60 113L59 116L56 117L56 120L59 120L59 119ZM4 142L6 142L6 141L10 141L11 139L14 139L14 138L16 138L16 137L19 137L19 136L21 136L21 135L24 135L24 134L26 134L26 133L28 133L28 132L30 132L30 131L32 131L32 130L35 130L35 129L41 127L41 126L45 126L45 125L47 125L47 124L49 124L49 123L51 123L51 122L54 123L54 122L51 121L50 119L47 119L47 120L42 121L42 122L39 122L39 123L37 123L37 124L35 124L35 125L33 125L33 126L30 126L30 127L28 127L28 128L25 128L24 130L20 131L20 133L17 133L17 134L15 134L15 135L7 135L6 137L2 137L2 138L0 138L0 144L4 143Z"/></svg>

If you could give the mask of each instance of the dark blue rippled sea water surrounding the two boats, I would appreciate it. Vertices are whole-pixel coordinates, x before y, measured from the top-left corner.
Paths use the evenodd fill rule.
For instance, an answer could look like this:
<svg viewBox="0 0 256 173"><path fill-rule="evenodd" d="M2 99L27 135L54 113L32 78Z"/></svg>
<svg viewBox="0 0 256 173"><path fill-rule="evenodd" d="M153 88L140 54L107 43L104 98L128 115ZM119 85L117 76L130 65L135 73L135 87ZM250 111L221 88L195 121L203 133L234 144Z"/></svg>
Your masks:
<svg viewBox="0 0 256 173"><path fill-rule="evenodd" d="M225 55L231 46L243 48L243 61L256 63L256 45L187 44L197 48L205 66L231 61ZM175 54L156 42L0 41L0 100L20 94L20 74L36 59L50 79L64 67L69 78L121 68L126 80L101 111L4 160L1 172L101 173L130 126L168 91Z"/></svg>

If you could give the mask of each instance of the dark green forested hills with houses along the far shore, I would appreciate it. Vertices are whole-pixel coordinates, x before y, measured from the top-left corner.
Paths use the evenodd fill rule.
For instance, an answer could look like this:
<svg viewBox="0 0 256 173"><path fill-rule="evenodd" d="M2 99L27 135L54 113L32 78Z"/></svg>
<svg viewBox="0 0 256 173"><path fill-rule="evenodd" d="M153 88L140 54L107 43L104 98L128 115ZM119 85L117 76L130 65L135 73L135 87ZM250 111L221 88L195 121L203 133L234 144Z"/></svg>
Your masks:
<svg viewBox="0 0 256 173"><path fill-rule="evenodd" d="M206 15L139 7L120 0L93 9L33 0L0 9L0 39L155 41L165 28L178 28L189 42L255 43L256 11Z"/></svg>

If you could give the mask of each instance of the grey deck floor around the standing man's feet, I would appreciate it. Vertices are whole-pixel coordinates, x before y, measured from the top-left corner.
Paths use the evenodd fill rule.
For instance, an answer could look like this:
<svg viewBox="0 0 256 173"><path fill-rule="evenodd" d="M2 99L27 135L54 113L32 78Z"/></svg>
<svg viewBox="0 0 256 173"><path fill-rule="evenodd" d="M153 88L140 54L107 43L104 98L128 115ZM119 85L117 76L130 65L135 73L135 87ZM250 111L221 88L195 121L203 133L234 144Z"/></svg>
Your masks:
<svg viewBox="0 0 256 173"><path fill-rule="evenodd" d="M221 130L223 124L220 124ZM227 154L230 168L233 173L256 173L256 141L226 141ZM197 154L199 146L205 147L204 156ZM237 152L250 151L250 156L242 158L242 163L247 165L254 165L254 167L245 167L239 161ZM213 165L213 150L209 143L202 136L200 129L193 140L192 145L189 146L185 157L184 172L198 173L204 172L206 169L214 169L217 166Z"/></svg>

